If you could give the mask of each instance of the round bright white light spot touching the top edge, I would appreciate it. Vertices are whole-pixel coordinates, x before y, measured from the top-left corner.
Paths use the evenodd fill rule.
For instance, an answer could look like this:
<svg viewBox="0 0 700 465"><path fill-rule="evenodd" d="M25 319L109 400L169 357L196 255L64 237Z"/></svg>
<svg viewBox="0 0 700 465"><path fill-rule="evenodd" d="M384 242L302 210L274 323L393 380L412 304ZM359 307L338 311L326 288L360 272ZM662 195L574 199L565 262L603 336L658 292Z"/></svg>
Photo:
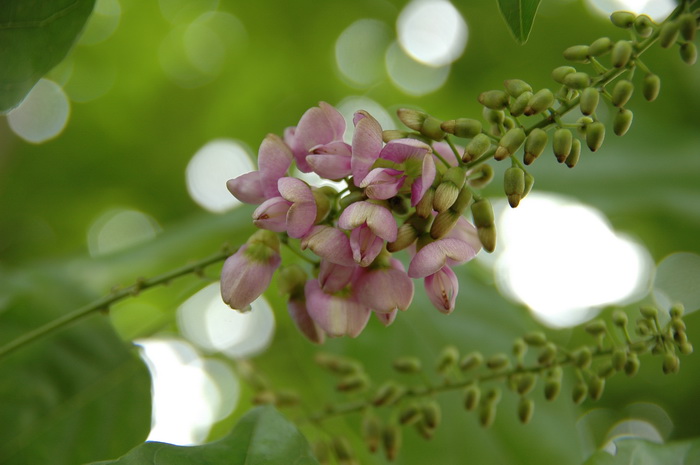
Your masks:
<svg viewBox="0 0 700 465"><path fill-rule="evenodd" d="M467 44L467 23L447 0L413 0L399 14L396 28L401 48L428 66L452 63Z"/></svg>

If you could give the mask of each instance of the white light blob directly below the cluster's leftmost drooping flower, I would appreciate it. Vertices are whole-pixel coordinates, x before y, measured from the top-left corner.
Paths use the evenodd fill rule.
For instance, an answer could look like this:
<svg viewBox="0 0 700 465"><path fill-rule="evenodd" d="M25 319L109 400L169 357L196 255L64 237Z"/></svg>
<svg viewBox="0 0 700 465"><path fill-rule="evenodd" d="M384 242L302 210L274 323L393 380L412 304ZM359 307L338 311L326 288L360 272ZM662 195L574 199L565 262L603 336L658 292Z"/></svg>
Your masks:
<svg viewBox="0 0 700 465"><path fill-rule="evenodd" d="M177 310L180 332L207 352L245 358L264 351L275 332L270 304L259 297L251 311L241 313L221 300L220 284L213 283L187 299Z"/></svg>

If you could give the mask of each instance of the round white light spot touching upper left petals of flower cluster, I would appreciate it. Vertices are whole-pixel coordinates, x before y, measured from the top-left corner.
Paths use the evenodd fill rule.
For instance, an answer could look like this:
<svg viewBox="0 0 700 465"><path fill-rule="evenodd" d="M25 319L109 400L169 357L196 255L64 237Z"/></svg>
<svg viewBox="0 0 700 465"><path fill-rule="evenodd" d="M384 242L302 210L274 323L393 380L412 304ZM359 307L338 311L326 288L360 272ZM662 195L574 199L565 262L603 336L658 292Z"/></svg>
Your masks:
<svg viewBox="0 0 700 465"><path fill-rule="evenodd" d="M241 204L226 181L255 170L246 147L232 139L215 139L194 154L185 170L187 191L199 206L223 213Z"/></svg>

